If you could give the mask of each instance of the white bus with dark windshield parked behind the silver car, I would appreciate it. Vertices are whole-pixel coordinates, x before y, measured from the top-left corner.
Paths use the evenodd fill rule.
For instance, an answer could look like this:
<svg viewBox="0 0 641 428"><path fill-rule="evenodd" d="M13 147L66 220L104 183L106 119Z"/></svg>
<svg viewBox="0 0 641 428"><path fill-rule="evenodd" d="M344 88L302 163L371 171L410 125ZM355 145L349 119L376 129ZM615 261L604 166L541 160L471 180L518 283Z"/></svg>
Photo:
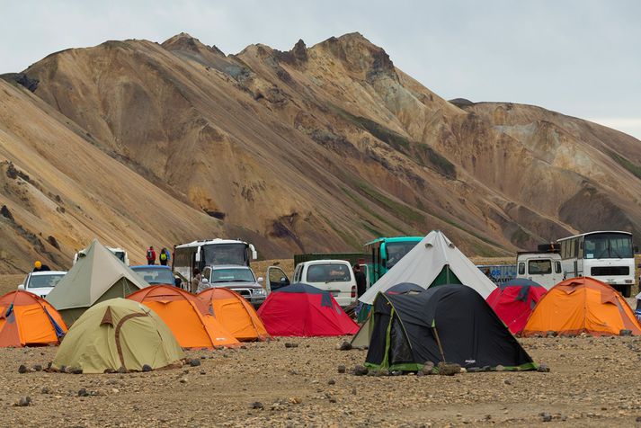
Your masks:
<svg viewBox="0 0 641 428"><path fill-rule="evenodd" d="M194 268L200 272L205 266L242 265L249 266L256 260L254 245L235 239L209 239L176 245L173 257L174 272L191 281Z"/></svg>

